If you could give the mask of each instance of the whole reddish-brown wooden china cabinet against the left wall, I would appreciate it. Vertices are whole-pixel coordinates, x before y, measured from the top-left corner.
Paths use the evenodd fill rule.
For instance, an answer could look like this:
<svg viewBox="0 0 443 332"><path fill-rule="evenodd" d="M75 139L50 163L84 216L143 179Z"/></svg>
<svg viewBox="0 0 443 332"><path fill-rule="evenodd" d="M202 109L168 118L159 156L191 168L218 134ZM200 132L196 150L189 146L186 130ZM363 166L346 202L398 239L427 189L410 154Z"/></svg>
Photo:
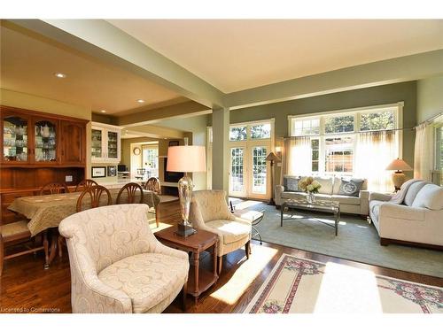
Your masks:
<svg viewBox="0 0 443 332"><path fill-rule="evenodd" d="M0 224L15 197L35 195L49 182L76 185L85 176L86 124L45 112L0 106ZM66 178L67 177L67 178ZM72 181L66 181L66 179Z"/></svg>

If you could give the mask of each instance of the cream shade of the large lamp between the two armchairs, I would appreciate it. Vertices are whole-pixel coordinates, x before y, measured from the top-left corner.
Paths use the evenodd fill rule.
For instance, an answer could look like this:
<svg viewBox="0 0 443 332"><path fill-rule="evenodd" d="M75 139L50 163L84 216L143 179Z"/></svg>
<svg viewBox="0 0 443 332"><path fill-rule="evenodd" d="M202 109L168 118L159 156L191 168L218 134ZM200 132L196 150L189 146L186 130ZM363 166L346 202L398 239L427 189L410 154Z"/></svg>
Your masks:
<svg viewBox="0 0 443 332"><path fill-rule="evenodd" d="M205 147L199 145L170 146L167 149L168 172L206 172Z"/></svg>

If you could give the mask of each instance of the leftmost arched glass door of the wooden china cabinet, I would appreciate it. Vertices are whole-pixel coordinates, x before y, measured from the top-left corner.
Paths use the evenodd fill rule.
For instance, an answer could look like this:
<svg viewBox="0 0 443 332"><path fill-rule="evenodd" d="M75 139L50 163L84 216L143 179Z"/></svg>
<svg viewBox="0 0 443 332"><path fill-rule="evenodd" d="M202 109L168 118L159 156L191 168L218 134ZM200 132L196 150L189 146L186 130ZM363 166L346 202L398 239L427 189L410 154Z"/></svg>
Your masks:
<svg viewBox="0 0 443 332"><path fill-rule="evenodd" d="M27 162L29 146L27 135L28 120L19 116L7 116L3 120L4 161Z"/></svg>

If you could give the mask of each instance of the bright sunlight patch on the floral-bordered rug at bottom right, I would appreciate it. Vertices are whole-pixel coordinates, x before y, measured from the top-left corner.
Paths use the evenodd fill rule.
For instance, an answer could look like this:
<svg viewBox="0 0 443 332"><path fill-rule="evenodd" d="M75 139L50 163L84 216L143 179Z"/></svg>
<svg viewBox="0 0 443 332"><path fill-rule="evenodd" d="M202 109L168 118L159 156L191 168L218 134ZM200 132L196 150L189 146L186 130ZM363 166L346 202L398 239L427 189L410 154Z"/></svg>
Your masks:
<svg viewBox="0 0 443 332"><path fill-rule="evenodd" d="M376 275L327 263L314 313L383 313Z"/></svg>

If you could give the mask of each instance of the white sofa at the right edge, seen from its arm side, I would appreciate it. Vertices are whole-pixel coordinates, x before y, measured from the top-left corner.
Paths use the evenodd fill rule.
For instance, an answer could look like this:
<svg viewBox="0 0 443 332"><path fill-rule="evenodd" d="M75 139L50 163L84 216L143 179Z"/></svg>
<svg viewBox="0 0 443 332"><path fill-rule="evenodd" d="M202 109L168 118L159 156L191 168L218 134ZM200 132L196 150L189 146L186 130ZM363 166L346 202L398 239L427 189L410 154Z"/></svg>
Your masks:
<svg viewBox="0 0 443 332"><path fill-rule="evenodd" d="M400 204L391 199L389 195L369 195L369 216L382 245L405 243L443 249L443 188L416 181Z"/></svg>

